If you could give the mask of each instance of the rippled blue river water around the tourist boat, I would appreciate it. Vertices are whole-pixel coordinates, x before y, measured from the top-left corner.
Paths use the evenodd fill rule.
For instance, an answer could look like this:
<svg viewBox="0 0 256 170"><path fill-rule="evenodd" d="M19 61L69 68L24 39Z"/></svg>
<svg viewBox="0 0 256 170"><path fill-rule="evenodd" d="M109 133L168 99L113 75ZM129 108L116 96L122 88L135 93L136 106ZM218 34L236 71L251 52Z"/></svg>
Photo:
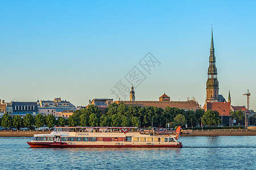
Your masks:
<svg viewBox="0 0 256 170"><path fill-rule="evenodd" d="M180 137L183 148L30 148L0 137L0 169L256 169L256 136Z"/></svg>

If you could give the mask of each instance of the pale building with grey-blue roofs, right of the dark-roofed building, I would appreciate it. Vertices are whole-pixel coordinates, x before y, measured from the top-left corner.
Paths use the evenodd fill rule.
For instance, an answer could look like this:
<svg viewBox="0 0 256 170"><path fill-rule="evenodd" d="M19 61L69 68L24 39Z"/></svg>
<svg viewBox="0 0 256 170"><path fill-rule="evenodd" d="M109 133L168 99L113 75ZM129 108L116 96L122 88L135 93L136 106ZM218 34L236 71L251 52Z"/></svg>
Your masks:
<svg viewBox="0 0 256 170"><path fill-rule="evenodd" d="M46 116L52 114L53 116L58 117L58 115L64 111L72 113L76 111L75 105L70 103L70 101L61 100L61 97L56 97L54 100L38 100L37 103L39 113Z"/></svg>

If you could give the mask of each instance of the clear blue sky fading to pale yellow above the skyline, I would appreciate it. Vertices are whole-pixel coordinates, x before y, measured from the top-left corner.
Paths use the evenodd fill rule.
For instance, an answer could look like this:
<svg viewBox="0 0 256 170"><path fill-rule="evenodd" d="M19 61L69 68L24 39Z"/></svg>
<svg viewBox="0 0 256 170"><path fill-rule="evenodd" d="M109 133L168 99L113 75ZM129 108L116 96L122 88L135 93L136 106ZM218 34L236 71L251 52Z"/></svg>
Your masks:
<svg viewBox="0 0 256 170"><path fill-rule="evenodd" d="M220 94L256 110L256 1L0 1L0 99L75 105L118 98L134 66L145 79L136 100L194 96L203 106L210 31ZM161 63L148 74L139 61ZM128 99L129 94L127 94Z"/></svg>

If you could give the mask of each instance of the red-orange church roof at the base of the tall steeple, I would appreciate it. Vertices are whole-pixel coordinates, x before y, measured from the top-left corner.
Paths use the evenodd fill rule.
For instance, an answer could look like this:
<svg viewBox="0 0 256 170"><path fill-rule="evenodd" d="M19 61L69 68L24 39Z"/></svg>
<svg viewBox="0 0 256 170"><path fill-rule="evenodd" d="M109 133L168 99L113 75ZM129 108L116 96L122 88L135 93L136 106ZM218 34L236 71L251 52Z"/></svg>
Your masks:
<svg viewBox="0 0 256 170"><path fill-rule="evenodd" d="M231 109L230 102L207 102L204 106L205 111L212 109L213 111L218 111L220 116L230 116L229 112Z"/></svg>

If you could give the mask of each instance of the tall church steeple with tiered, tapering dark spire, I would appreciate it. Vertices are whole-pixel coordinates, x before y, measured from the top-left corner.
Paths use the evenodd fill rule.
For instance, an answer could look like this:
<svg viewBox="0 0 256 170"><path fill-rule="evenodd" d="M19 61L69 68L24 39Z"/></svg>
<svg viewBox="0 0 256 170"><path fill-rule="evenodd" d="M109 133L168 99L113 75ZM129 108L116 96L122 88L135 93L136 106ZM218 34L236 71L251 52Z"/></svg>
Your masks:
<svg viewBox="0 0 256 170"><path fill-rule="evenodd" d="M210 57L209 57L208 79L207 79L206 90L207 90L207 99L205 101L217 102L218 101L218 79L217 79L216 58L214 55L213 30L212 30L212 39L210 41Z"/></svg>

